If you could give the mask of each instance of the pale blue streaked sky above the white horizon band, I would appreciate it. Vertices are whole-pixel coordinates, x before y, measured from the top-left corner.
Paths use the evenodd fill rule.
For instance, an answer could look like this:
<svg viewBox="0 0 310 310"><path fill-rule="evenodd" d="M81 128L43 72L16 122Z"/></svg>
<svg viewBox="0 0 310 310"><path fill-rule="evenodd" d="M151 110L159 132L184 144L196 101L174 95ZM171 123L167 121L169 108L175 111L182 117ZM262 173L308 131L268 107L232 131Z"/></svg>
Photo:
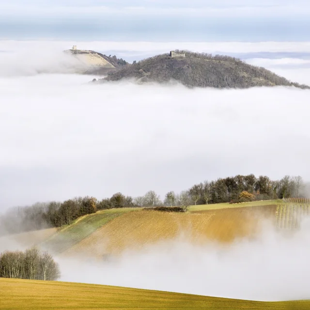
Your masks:
<svg viewBox="0 0 310 310"><path fill-rule="evenodd" d="M309 41L309 2L0 0L0 38Z"/></svg>

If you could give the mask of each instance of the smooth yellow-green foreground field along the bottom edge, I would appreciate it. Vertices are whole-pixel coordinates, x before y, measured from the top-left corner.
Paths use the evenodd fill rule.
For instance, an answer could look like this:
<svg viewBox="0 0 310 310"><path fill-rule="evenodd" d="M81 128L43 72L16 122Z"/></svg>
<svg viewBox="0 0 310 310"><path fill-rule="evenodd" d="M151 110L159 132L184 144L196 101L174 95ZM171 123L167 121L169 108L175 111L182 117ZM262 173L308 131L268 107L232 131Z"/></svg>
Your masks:
<svg viewBox="0 0 310 310"><path fill-rule="evenodd" d="M309 310L310 301L259 302L94 284L0 279L2 310Z"/></svg>

